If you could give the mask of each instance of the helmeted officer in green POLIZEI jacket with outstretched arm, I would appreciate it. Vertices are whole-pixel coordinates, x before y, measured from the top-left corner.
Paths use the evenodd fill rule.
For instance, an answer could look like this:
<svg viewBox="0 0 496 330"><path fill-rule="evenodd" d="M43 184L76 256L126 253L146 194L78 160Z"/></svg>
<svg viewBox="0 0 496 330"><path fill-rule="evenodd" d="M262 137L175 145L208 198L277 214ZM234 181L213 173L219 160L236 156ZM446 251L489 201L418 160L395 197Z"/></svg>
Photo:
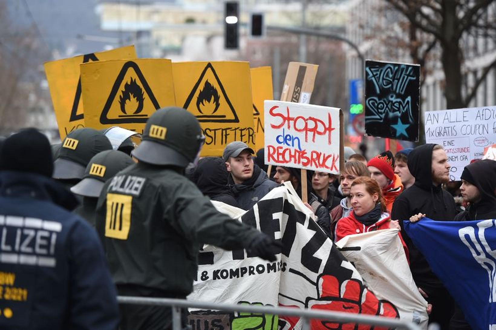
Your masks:
<svg viewBox="0 0 496 330"><path fill-rule="evenodd" d="M157 110L132 152L139 162L105 184L96 228L120 295L185 298L203 243L247 248L269 261L281 252L280 242L218 212L184 176L203 142L194 115L175 107ZM123 330L171 327L170 308L121 305Z"/></svg>

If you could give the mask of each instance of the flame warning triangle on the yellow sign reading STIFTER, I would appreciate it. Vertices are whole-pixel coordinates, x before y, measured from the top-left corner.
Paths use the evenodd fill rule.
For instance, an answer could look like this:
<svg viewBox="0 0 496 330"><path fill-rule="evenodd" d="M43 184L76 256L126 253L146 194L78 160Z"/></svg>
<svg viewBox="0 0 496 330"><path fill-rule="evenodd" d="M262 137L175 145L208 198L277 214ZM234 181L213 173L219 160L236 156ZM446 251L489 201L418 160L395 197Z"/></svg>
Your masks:
<svg viewBox="0 0 496 330"><path fill-rule="evenodd" d="M200 122L240 122L212 63L208 63L183 106Z"/></svg>

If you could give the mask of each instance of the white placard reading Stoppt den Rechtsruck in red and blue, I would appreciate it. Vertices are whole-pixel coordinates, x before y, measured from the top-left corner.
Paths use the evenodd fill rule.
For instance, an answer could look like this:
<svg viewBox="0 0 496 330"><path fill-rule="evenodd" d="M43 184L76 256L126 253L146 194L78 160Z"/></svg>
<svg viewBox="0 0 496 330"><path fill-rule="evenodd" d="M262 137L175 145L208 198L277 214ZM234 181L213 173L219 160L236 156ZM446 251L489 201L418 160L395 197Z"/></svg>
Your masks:
<svg viewBox="0 0 496 330"><path fill-rule="evenodd" d="M266 100L266 164L338 173L341 113L339 108Z"/></svg>

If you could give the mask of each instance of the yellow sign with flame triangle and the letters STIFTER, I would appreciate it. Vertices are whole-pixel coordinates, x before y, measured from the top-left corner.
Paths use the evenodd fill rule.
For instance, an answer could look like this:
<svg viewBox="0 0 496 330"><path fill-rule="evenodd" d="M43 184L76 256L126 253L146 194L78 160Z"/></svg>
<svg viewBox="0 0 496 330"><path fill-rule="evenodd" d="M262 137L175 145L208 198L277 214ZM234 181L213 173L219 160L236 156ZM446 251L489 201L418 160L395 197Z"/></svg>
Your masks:
<svg viewBox="0 0 496 330"><path fill-rule="evenodd" d="M222 156L224 147L243 141L255 148L248 62L173 63L176 104L201 124L201 156Z"/></svg>

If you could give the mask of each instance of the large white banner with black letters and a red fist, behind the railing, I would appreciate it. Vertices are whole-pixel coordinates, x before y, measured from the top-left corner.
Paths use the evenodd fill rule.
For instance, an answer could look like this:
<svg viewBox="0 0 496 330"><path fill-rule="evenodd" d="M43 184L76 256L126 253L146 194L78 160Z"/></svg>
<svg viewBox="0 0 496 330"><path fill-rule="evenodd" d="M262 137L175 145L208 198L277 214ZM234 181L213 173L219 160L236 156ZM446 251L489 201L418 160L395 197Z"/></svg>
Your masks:
<svg viewBox="0 0 496 330"><path fill-rule="evenodd" d="M399 317L398 309L391 302L378 299L364 285L359 272L295 196L288 183L273 189L246 212L214 203L219 211L280 240L283 248L277 261L269 263L250 256L245 250L224 251L205 245L199 255L197 279L188 299ZM189 324L192 330L298 330L302 326L295 317L278 319L272 315L201 310L191 311ZM312 329L321 330L343 326L318 320L312 321L311 325ZM346 327L353 329L354 325Z"/></svg>

